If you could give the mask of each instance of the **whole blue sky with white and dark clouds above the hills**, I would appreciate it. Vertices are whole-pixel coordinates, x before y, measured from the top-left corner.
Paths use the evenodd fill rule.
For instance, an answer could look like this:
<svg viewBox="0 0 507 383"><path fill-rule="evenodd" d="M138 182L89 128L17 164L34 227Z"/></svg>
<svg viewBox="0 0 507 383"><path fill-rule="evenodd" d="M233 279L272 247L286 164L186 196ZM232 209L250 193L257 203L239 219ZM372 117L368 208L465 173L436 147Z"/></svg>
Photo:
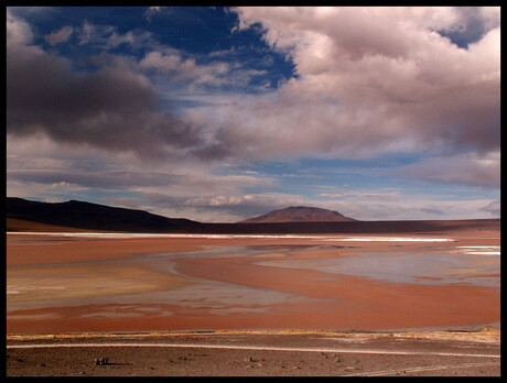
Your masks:
<svg viewBox="0 0 507 383"><path fill-rule="evenodd" d="M7 195L500 216L499 8L6 8Z"/></svg>

